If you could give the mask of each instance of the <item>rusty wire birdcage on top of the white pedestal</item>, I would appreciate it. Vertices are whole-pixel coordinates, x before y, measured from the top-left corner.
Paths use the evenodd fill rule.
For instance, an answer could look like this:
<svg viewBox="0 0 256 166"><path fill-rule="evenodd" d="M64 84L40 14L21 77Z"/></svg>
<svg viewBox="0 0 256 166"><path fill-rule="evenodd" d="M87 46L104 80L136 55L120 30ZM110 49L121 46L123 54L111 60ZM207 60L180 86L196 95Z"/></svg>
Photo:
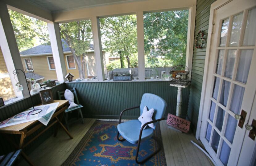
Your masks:
<svg viewBox="0 0 256 166"><path fill-rule="evenodd" d="M171 84L186 85L190 82L189 80L189 69L185 65L177 65L170 70L170 81Z"/></svg>

